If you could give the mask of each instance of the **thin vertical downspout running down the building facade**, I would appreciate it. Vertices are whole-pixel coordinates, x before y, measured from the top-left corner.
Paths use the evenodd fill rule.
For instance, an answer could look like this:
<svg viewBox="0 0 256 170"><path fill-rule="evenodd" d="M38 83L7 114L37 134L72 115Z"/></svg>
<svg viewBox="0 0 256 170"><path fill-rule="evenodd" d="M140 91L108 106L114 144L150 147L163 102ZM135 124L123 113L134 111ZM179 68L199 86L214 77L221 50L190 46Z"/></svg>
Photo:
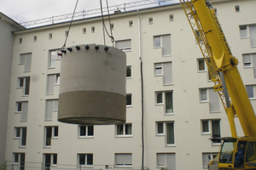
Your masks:
<svg viewBox="0 0 256 170"><path fill-rule="evenodd" d="M143 99L143 59L141 51L141 18L139 10L137 9L137 23L138 23L138 39L139 39L139 59L141 61L141 88L142 88L142 145L143 145L143 154L142 154L142 170L144 170L144 99Z"/></svg>

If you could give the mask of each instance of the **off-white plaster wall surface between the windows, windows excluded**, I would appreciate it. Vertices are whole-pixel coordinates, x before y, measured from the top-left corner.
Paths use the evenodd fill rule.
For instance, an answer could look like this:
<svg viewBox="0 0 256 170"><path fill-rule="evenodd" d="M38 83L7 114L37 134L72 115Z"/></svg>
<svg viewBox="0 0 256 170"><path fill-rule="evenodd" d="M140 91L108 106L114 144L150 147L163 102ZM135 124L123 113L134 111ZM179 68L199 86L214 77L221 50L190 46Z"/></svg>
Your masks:
<svg viewBox="0 0 256 170"><path fill-rule="evenodd" d="M213 3L218 8L218 18L222 23L225 36L230 43L233 54L240 60L238 65L245 84L256 84L252 69L243 69L241 54L255 53L249 39L240 39L239 25L255 24L252 3L254 1L228 1ZM235 12L235 5L240 5L241 12ZM202 152L218 152L219 144L212 145L211 135L201 134L201 119L221 119L221 136L230 136L230 127L224 109L209 113L209 105L200 103L199 88L211 88L212 82L207 82L207 72L197 71L197 59L202 58L201 51L195 43L195 37L182 8L156 8L156 10L140 10L142 61L144 83L144 166L157 169L156 153L175 153L176 169L202 169ZM174 20L169 21L169 14ZM65 40L67 26L51 28L51 26L21 31L15 33L14 59L11 77L11 93L9 99L9 122L7 130L6 160L13 160L13 152L26 152L26 161L42 162L44 153L57 153L58 164L77 164L78 153L93 153L94 165L113 165L114 153L132 153L132 168L140 168L142 163L141 139L141 77L138 40L137 12L112 17L115 40L131 39L131 52L127 52L127 65L131 65L131 78L126 79L126 94L132 94L132 106L127 107L127 122L132 122L132 137L115 137L115 128L111 126L96 126L91 139L78 138L78 126L57 122L57 113L53 121L44 121L45 100L57 99L59 87L55 94L46 95L46 80L48 74L61 71L61 60L56 61L54 69L48 69L49 50L61 48ZM154 24L148 25L148 18L153 17ZM129 27L133 20L133 27ZM79 24L76 24L79 23ZM90 27L95 26L96 32L91 33ZM86 27L87 33L82 29ZM49 33L53 39L49 40ZM154 36L171 34L172 56L162 57L159 48L154 47ZM32 37L38 41L33 42ZM18 39L22 37L22 44ZM74 22L67 39L67 47L77 44L102 44L102 21L99 19ZM107 38L107 44L112 45ZM19 55L32 53L32 71L23 72L18 65ZM154 63L172 61L172 80L170 86L162 85L162 77L154 77ZM250 74L249 74L250 73ZM17 77L31 76L29 97L21 97L17 89ZM163 106L155 105L155 91L173 91L174 114L164 115ZM15 113L15 101L28 100L28 120L20 122L20 116ZM253 106L256 105L254 100ZM155 122L173 121L175 144L166 146L164 136L156 136ZM239 124L236 120L236 124ZM19 148L14 139L14 127L27 127L26 148ZM44 147L44 126L59 126L58 139L52 139L50 148ZM238 125L239 127L239 125ZM242 135L241 127L238 134ZM96 168L96 166L95 166Z"/></svg>

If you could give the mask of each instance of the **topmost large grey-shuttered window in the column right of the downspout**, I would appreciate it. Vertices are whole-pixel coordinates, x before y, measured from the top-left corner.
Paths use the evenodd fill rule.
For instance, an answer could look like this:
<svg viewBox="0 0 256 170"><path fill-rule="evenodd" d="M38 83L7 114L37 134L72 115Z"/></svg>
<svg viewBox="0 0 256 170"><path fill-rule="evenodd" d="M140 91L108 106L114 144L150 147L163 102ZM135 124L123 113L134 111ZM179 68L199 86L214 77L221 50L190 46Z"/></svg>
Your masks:
<svg viewBox="0 0 256 170"><path fill-rule="evenodd" d="M163 56L171 55L171 34L154 36L154 48L162 48Z"/></svg>

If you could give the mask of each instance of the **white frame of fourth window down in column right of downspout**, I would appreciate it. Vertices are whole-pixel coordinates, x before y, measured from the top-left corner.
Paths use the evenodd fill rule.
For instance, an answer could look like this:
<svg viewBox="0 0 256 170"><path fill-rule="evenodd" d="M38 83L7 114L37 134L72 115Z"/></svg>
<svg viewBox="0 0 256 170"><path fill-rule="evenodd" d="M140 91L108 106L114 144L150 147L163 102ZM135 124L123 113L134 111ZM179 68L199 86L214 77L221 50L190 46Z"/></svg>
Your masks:
<svg viewBox="0 0 256 170"><path fill-rule="evenodd" d="M158 133L158 124L162 123L163 124L163 133ZM167 124L172 123L173 124L173 135L174 135L174 140L173 144L167 144ZM175 138L175 122L174 121L168 121L168 122L155 122L155 135L156 136L164 136L165 137L165 144L166 146L176 146L176 138Z"/></svg>

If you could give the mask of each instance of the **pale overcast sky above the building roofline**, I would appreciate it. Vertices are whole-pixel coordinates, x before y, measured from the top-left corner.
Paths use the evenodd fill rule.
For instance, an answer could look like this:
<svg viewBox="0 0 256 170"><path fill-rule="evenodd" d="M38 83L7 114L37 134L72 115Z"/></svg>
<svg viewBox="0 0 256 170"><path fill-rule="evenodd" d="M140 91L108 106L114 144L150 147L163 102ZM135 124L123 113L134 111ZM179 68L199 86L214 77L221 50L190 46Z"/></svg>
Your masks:
<svg viewBox="0 0 256 170"><path fill-rule="evenodd" d="M138 1L143 2L143 0L108 0L108 6ZM156 0L150 0L150 2L154 1ZM163 2L164 0L159 1ZM177 2L177 0L167 1L169 1L168 3L170 1ZM76 3L77 0L0 0L0 12L16 22L22 23L62 14L72 14ZM107 7L106 0L102 0L102 7ZM76 12L96 8L100 8L100 0L79 0Z"/></svg>

